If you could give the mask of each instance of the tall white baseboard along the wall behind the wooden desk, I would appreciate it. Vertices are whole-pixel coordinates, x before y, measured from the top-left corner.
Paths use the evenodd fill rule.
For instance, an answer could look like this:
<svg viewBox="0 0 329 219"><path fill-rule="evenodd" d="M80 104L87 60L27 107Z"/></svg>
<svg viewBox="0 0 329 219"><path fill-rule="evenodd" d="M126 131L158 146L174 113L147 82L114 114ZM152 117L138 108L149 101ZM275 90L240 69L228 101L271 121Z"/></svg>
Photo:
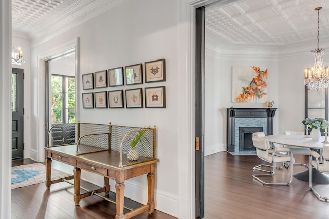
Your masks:
<svg viewBox="0 0 329 219"><path fill-rule="evenodd" d="M81 177L82 180L87 181L89 183L95 184L99 187L103 187L103 177L99 175L92 174L94 181L92 182L88 178L89 173L84 173L86 177ZM144 177L144 176L142 176ZM146 177L146 176L145 176ZM115 192L115 181L110 180L109 182L111 186L111 191ZM146 204L148 202L148 188L147 185L141 185L136 182L132 182L131 180L127 180L124 182L125 188L124 188L124 196L127 198L130 198L131 200L135 202L139 202L141 204ZM178 217L178 196L173 195L168 192L163 192L155 189L154 191L154 201L155 201L155 209L169 214L174 217Z"/></svg>

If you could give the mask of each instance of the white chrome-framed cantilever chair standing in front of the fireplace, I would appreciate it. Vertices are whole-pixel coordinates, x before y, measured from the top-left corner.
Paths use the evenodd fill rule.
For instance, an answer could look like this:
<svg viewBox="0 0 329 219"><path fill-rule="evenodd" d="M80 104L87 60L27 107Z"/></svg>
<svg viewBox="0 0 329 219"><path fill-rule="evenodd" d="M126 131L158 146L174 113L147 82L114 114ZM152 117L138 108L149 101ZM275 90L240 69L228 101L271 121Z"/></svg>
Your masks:
<svg viewBox="0 0 329 219"><path fill-rule="evenodd" d="M264 135L265 136L265 135ZM268 163L272 163L273 166L266 165L266 164L261 164L258 166L253 167L253 170L259 170L259 171L264 171L264 172L269 172L269 174L253 174L252 177L255 178L256 180L260 181L264 185L289 185L291 181L293 181L293 167L291 166L289 175L290 175L290 180L289 182L277 182L277 183L268 183L260 179L260 177L263 176L272 176L276 172L276 163L277 162L290 162L294 163L294 158L293 154L291 154L289 148L281 148L281 147L276 147L273 148L269 141L266 138L263 137L257 137L257 134L253 134L252 136L252 143L256 147L256 153L257 156ZM285 152L286 154L281 154L280 152ZM266 166L266 167L272 167L272 171L264 170L261 169L261 167ZM282 169L278 168L278 169Z"/></svg>

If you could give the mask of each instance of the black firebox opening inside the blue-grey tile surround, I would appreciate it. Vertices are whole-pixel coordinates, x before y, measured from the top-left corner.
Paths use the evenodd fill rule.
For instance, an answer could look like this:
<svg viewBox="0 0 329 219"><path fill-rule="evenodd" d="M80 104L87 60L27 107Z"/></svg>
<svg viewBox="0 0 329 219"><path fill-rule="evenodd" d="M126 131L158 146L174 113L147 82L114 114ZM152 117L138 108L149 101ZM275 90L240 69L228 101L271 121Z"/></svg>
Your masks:
<svg viewBox="0 0 329 219"><path fill-rule="evenodd" d="M252 133L263 131L263 127L239 127L239 151L255 151Z"/></svg>

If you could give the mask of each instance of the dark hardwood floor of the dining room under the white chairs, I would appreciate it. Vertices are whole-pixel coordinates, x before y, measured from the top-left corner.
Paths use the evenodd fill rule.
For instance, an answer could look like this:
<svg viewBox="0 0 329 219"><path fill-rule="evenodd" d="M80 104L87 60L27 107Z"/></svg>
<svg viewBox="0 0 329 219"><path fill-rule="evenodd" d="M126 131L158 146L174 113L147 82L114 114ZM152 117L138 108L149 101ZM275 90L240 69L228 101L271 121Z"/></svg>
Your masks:
<svg viewBox="0 0 329 219"><path fill-rule="evenodd" d="M296 162L309 162L308 156L294 157ZM205 218L329 218L329 203L319 201L308 182L293 178L289 186L263 186L254 180L253 172L259 171L252 167L261 163L266 162L254 155L233 156L227 152L205 157ZM293 170L306 168L294 165ZM278 170L275 175L273 180L285 180L288 170ZM329 188L315 188L319 186L324 186L324 192Z"/></svg>

